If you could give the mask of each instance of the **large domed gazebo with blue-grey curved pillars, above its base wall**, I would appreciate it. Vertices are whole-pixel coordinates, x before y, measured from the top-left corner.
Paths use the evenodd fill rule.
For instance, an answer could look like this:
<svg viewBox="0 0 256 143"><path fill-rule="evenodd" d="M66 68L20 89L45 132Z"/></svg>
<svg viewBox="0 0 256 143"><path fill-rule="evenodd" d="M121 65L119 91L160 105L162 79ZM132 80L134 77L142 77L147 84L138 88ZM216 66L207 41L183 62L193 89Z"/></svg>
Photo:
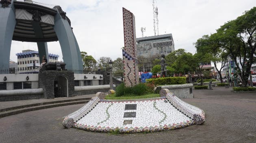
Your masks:
<svg viewBox="0 0 256 143"><path fill-rule="evenodd" d="M48 58L47 42L59 40L66 69L83 69L71 22L60 6L1 0L0 33L0 69L9 69L12 40L36 42L40 59Z"/></svg>

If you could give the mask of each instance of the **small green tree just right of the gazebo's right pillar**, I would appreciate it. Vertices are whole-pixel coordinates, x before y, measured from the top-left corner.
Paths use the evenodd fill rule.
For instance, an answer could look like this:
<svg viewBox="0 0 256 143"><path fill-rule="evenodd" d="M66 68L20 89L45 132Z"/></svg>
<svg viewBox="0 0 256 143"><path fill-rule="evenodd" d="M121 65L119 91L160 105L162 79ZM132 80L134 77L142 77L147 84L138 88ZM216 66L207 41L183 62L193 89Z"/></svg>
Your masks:
<svg viewBox="0 0 256 143"><path fill-rule="evenodd" d="M91 70L93 67L96 66L97 61L91 55L87 55L86 52L81 52L81 57L82 65L85 70Z"/></svg>

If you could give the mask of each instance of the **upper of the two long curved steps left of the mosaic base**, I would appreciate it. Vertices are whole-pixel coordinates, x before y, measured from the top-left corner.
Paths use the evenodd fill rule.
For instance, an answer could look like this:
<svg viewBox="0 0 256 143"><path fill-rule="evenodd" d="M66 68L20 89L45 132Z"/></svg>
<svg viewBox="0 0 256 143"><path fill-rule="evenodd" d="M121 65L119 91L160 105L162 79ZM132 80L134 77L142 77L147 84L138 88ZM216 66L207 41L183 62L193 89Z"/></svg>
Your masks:
<svg viewBox="0 0 256 143"><path fill-rule="evenodd" d="M15 109L22 109L22 108L33 107L33 106L56 104L56 103L65 103L65 102L73 102L73 101L84 101L84 100L91 100L91 97L88 97L88 98L78 98L78 99L65 99L65 98L63 98L63 100L57 100L57 101L49 101L49 102L33 103L33 104L27 104L27 105L21 105L21 106L14 106L14 107L0 109L0 113L4 112L4 111L15 110Z"/></svg>

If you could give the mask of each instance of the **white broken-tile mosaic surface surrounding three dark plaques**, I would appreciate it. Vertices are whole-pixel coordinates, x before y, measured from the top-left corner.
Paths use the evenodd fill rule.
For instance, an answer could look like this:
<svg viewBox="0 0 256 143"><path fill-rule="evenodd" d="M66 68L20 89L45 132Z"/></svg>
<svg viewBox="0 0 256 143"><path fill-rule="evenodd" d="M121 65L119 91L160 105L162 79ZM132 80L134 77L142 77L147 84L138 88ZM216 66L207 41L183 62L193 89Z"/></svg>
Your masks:
<svg viewBox="0 0 256 143"><path fill-rule="evenodd" d="M76 122L94 128L152 128L183 124L191 119L175 109L165 99L150 101L100 102L86 116ZM124 110L126 104L137 104L136 110ZM136 118L124 118L124 112L136 112ZM124 125L124 120L132 124Z"/></svg>

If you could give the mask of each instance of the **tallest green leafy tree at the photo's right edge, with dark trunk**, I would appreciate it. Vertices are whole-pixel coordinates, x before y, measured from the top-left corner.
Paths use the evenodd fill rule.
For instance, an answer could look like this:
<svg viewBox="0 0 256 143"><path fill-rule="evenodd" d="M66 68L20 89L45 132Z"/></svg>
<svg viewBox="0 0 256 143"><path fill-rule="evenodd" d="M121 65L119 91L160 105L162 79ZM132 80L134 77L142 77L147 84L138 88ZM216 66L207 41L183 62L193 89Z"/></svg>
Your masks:
<svg viewBox="0 0 256 143"><path fill-rule="evenodd" d="M228 21L217 29L217 33L221 35L227 52L236 64L243 86L247 86L250 69L256 63L256 7Z"/></svg>

